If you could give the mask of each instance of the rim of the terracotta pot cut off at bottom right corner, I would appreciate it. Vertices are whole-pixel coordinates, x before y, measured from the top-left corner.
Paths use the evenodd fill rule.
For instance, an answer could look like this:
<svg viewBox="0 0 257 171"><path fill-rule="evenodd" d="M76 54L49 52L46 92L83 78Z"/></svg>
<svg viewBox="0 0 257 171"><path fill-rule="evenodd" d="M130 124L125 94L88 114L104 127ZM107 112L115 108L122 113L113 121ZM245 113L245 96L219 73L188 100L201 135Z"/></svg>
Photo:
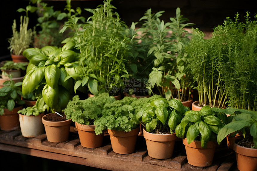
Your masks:
<svg viewBox="0 0 257 171"><path fill-rule="evenodd" d="M249 157L257 157L257 149L256 148L248 148L248 147L243 147L241 145L238 145L238 144L235 143L235 141L237 139L240 139L240 138L236 138L233 141L233 150L236 153L241 154L241 155L245 155L245 156L249 156Z"/></svg>

